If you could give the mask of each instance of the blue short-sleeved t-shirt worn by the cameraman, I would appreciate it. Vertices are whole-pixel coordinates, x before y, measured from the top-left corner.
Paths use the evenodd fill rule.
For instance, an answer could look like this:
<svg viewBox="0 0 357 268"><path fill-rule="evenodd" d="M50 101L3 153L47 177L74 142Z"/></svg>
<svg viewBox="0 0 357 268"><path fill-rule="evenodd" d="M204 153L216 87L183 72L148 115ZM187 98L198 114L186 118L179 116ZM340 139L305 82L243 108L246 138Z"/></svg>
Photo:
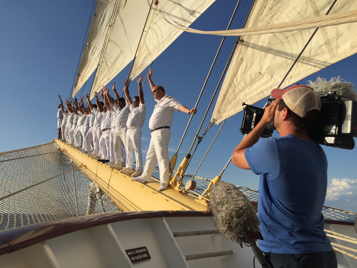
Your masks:
<svg viewBox="0 0 357 268"><path fill-rule="evenodd" d="M247 148L245 158L260 174L260 249L282 254L332 250L321 213L327 190L321 146L293 135L267 138Z"/></svg>

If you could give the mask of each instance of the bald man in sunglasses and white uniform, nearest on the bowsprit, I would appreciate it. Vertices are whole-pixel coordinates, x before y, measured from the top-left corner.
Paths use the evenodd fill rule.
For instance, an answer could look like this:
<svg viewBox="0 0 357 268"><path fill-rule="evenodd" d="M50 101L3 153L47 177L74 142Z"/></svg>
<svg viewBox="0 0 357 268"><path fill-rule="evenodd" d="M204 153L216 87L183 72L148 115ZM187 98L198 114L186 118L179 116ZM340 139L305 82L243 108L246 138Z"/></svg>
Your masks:
<svg viewBox="0 0 357 268"><path fill-rule="evenodd" d="M152 70L150 69L147 78L150 83L152 95L157 101L149 121L151 140L146 155L144 172L141 176L132 177L131 179L141 183L147 183L154 171L156 162L159 162L161 183L159 190L163 191L169 186L169 140L171 137L170 126L172 125L174 111L196 114L197 109L188 109L171 96L165 94L165 89L162 86L155 86L152 82L151 74Z"/></svg>

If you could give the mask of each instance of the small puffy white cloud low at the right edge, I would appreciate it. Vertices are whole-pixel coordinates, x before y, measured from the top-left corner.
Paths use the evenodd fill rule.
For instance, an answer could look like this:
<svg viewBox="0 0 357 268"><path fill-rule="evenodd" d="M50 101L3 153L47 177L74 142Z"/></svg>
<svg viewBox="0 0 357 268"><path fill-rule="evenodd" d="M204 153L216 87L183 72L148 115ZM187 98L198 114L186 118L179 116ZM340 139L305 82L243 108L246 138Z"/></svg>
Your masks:
<svg viewBox="0 0 357 268"><path fill-rule="evenodd" d="M357 180L334 178L327 187L326 200L337 201L338 198L350 198L351 195L357 195Z"/></svg>

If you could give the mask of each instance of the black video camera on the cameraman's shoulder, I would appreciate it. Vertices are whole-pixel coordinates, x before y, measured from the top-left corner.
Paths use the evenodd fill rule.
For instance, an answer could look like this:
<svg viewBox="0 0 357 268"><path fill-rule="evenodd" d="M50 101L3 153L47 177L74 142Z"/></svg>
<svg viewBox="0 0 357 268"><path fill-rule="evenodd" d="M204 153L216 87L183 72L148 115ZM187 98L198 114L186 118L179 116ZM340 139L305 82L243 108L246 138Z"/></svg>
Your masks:
<svg viewBox="0 0 357 268"><path fill-rule="evenodd" d="M320 116L308 134L315 142L336 148L352 150L357 137L357 101L348 100L336 91L318 93L321 98ZM270 97L267 106L274 98ZM244 116L240 131L248 134L261 120L265 109L243 103ZM260 137L271 137L274 122L266 126Z"/></svg>

